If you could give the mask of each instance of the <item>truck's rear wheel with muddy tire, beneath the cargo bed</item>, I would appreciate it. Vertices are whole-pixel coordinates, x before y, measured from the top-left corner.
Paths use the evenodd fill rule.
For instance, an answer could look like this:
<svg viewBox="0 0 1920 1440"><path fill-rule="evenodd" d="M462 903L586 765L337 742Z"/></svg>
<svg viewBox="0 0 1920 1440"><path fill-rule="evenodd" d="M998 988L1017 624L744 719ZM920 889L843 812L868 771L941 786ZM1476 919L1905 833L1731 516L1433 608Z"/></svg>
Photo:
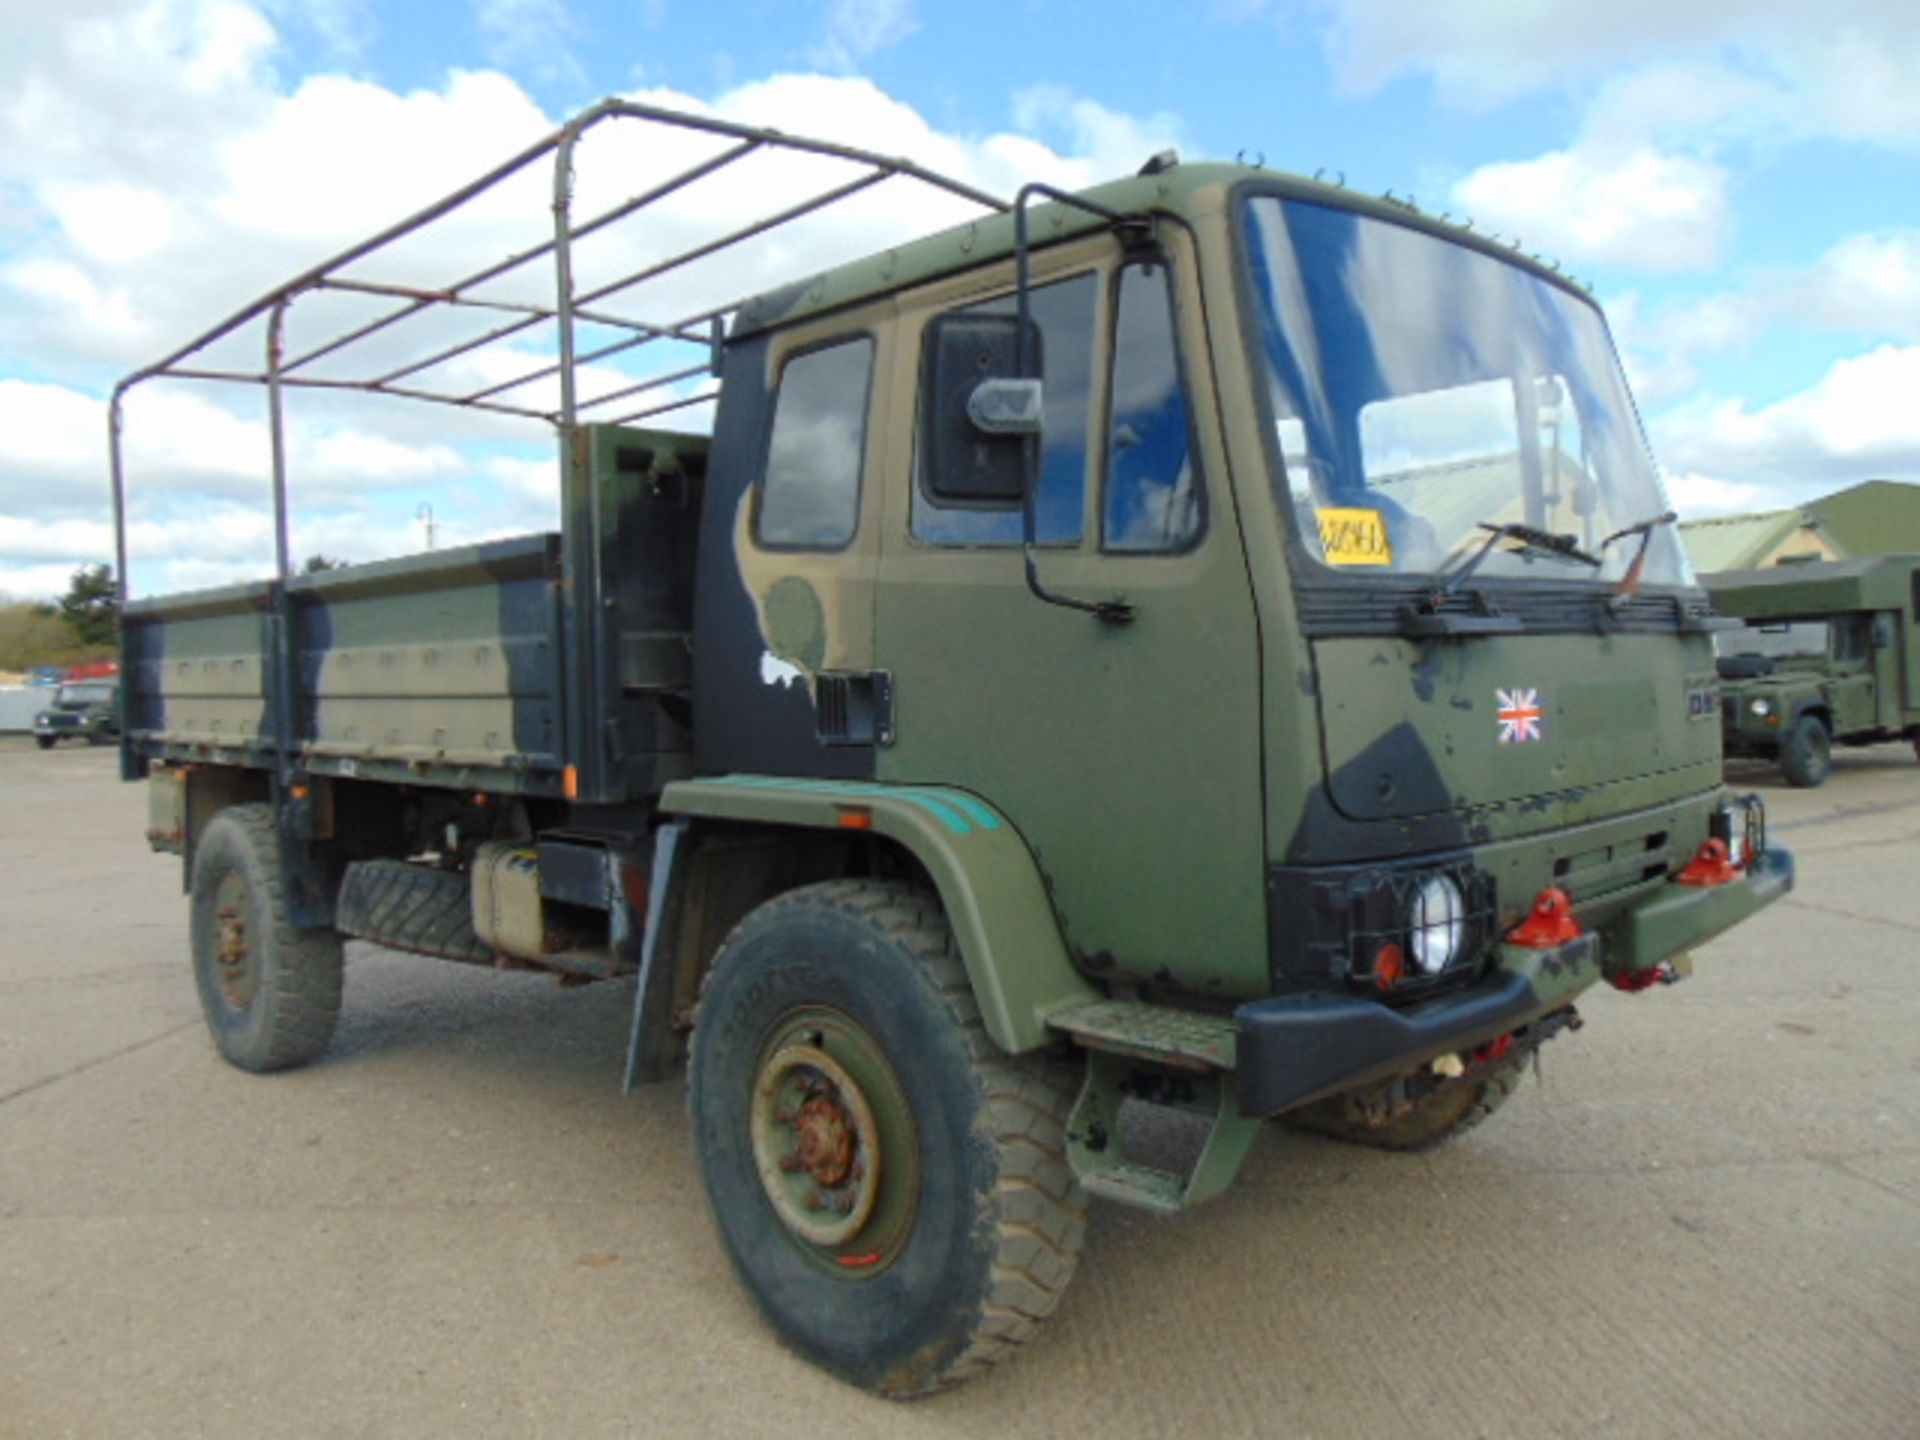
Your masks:
<svg viewBox="0 0 1920 1440"><path fill-rule="evenodd" d="M219 1052L253 1071L319 1056L340 1018L340 935L288 922L271 806L213 816L194 852L188 916L200 1008Z"/></svg>

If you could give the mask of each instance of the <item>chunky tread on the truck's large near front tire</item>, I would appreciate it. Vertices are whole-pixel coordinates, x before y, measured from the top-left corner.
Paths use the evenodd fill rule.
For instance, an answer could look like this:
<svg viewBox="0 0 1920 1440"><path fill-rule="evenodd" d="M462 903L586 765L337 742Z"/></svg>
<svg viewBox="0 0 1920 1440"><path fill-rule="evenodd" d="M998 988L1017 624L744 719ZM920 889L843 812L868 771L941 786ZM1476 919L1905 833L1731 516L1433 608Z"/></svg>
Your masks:
<svg viewBox="0 0 1920 1440"><path fill-rule="evenodd" d="M885 933L912 954L966 1041L981 1089L985 1139L1000 1156L993 1208L996 1246L985 1302L954 1359L939 1375L883 1384L895 1398L958 1384L1012 1356L1054 1313L1087 1236L1087 1196L1066 1158L1066 1121L1075 1068L1048 1058L1014 1058L987 1035L973 987L939 900L902 881L835 879L791 891L766 910L831 904ZM726 964L714 958L708 979ZM699 1044L699 1027L693 1031Z"/></svg>

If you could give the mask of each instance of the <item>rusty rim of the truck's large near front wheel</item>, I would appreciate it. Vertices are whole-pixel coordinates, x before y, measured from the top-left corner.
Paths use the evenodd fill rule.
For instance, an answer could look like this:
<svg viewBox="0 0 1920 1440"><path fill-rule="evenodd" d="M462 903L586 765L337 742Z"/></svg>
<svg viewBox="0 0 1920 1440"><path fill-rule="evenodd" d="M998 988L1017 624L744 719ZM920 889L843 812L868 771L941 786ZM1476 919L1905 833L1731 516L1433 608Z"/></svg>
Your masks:
<svg viewBox="0 0 1920 1440"><path fill-rule="evenodd" d="M885 1052L828 1008L781 1018L753 1083L760 1188L803 1254L864 1279L906 1248L920 1206L914 1116Z"/></svg>

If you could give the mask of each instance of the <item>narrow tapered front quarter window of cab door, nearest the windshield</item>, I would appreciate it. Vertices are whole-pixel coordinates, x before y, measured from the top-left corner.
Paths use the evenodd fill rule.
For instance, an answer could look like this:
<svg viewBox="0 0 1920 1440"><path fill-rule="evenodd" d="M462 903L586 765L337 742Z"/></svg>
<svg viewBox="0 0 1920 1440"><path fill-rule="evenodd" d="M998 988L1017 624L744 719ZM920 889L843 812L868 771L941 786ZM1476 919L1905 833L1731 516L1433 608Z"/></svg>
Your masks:
<svg viewBox="0 0 1920 1440"><path fill-rule="evenodd" d="M1200 534L1200 497L1167 267L1127 265L1114 305L1100 543L1135 555L1187 549Z"/></svg>

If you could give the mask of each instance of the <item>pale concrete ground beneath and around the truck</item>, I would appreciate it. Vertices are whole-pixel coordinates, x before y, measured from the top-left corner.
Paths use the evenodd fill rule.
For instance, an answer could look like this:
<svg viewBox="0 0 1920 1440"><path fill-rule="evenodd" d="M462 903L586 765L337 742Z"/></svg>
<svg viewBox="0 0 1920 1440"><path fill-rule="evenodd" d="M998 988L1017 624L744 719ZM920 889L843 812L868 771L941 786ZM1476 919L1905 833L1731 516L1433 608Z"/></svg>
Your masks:
<svg viewBox="0 0 1920 1440"><path fill-rule="evenodd" d="M355 947L328 1056L221 1064L177 862L106 751L0 741L0 1436L1920 1434L1920 766L1772 772L1799 891L1596 995L1432 1156L1275 1127L1096 1206L1025 1356L889 1405L708 1227L630 985Z"/></svg>

